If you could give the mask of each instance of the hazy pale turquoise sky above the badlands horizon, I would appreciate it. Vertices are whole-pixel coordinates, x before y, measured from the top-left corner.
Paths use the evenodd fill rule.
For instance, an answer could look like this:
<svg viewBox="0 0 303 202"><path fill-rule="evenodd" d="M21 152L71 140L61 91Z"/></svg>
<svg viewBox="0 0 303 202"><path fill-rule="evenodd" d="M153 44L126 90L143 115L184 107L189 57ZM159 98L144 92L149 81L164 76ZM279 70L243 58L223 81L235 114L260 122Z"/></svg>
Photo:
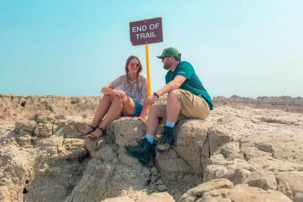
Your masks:
<svg viewBox="0 0 303 202"><path fill-rule="evenodd" d="M303 97L303 1L0 1L0 93L102 95L139 57L129 22L162 17L150 44L152 92L162 50L190 62L212 97Z"/></svg>

